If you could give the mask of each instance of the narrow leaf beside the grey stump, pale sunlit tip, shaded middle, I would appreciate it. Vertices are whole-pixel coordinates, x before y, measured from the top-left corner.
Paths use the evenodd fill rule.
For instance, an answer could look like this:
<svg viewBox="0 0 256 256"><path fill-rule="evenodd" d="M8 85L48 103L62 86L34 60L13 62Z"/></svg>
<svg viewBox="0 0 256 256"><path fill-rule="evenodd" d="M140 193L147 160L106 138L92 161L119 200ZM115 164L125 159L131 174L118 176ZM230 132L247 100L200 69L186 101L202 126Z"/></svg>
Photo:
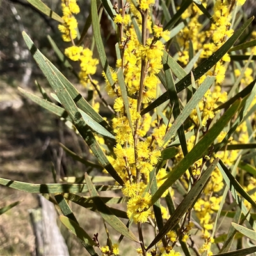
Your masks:
<svg viewBox="0 0 256 256"><path fill-rule="evenodd" d="M78 223L66 216L60 216L60 221L81 241L90 255L98 256L98 254L93 249L93 246L96 246L96 244L93 242L92 238L84 231L84 229L79 226Z"/></svg>

